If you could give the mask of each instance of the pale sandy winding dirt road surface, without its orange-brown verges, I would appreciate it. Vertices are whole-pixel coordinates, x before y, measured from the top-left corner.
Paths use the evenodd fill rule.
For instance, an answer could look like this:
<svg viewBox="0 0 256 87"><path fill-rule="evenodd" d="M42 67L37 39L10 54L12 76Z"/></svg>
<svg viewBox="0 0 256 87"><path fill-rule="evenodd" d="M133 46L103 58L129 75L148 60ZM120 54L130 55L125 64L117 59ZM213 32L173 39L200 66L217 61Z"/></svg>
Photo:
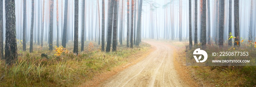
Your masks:
<svg viewBox="0 0 256 87"><path fill-rule="evenodd" d="M187 87L173 64L173 50L162 42L146 41L156 50L141 62L112 76L103 87Z"/></svg>

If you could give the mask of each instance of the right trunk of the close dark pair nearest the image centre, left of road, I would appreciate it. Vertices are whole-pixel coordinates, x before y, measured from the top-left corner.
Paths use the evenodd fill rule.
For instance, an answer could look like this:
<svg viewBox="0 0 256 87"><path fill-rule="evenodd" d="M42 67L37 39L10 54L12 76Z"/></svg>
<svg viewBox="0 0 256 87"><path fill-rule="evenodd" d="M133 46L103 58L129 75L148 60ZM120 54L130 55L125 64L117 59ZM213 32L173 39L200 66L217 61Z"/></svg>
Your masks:
<svg viewBox="0 0 256 87"><path fill-rule="evenodd" d="M117 1L113 0L114 11L113 11L113 49L112 51L116 51L116 30L117 30Z"/></svg>

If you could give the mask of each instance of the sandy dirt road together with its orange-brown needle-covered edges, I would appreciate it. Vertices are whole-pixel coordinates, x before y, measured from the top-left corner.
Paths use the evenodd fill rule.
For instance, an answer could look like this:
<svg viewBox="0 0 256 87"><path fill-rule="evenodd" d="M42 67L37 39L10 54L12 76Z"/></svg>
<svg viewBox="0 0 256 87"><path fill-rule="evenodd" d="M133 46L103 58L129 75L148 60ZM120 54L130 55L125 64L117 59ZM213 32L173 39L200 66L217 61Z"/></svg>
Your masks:
<svg viewBox="0 0 256 87"><path fill-rule="evenodd" d="M198 86L189 73L182 68L176 68L176 47L182 47L183 42L144 40L154 47L153 51L137 57L134 62L114 68L100 74L83 86L99 87L195 87ZM179 70L177 70L179 69Z"/></svg>

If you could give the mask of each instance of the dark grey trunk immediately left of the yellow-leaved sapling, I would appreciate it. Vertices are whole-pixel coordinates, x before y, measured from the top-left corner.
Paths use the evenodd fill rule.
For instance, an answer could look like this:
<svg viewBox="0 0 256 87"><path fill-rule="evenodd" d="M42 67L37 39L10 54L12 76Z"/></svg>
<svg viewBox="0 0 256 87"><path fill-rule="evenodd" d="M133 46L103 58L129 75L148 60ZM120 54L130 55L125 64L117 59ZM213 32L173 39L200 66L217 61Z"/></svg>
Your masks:
<svg viewBox="0 0 256 87"><path fill-rule="evenodd" d="M53 0L50 0L50 31L49 31L49 50L53 50Z"/></svg>

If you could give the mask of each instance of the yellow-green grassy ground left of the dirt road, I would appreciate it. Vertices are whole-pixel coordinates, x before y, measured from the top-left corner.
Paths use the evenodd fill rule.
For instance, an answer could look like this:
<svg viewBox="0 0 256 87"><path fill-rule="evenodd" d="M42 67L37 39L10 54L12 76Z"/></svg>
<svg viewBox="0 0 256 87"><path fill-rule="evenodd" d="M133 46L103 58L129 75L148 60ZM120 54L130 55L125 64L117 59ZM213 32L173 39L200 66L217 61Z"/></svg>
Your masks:
<svg viewBox="0 0 256 87"><path fill-rule="evenodd" d="M18 60L12 66L0 61L0 87L70 87L78 86L87 80L91 80L97 73L104 70L110 71L112 67L127 63L129 55L138 51L147 52L150 45L141 43L140 47L127 48L126 44L118 45L116 52L101 52L100 45L93 42L93 49L88 50L87 41L85 51L79 54L72 53L73 42L67 43L70 53L55 56L56 51L49 51L45 42L44 47L34 43L33 53L22 51L22 43L18 42ZM56 42L53 43L56 45ZM29 43L27 43L29 45ZM79 43L80 47L80 43ZM41 58L41 54L48 54L49 59Z"/></svg>

